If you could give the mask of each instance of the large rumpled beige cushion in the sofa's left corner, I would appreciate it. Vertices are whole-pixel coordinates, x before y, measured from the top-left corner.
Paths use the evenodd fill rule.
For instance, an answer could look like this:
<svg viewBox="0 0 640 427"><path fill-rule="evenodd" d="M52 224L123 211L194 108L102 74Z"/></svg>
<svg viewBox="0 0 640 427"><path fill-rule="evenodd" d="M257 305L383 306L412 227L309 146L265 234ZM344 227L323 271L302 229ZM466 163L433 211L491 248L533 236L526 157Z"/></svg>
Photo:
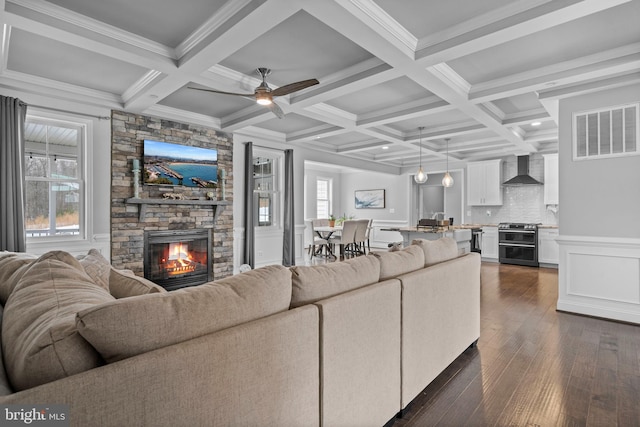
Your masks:
<svg viewBox="0 0 640 427"><path fill-rule="evenodd" d="M4 307L2 352L13 388L24 390L104 364L78 334L75 316L113 299L66 252L48 252L34 261Z"/></svg>

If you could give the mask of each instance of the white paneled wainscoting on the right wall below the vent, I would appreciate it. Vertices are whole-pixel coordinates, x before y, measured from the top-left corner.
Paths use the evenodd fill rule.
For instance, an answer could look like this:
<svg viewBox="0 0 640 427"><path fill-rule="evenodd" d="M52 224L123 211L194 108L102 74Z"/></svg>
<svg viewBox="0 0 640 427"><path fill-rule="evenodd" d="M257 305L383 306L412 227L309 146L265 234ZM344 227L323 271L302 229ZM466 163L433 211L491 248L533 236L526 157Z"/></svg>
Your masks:
<svg viewBox="0 0 640 427"><path fill-rule="evenodd" d="M557 241L558 310L640 324L640 239Z"/></svg>

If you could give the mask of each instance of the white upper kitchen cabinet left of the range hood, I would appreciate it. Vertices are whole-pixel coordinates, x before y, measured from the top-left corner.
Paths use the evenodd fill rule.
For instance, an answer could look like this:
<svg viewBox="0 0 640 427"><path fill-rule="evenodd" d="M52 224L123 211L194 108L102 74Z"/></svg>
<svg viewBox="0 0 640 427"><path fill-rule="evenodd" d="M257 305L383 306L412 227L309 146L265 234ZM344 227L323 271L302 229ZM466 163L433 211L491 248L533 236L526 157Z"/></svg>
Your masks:
<svg viewBox="0 0 640 427"><path fill-rule="evenodd" d="M502 160L467 163L467 204L502 205Z"/></svg>

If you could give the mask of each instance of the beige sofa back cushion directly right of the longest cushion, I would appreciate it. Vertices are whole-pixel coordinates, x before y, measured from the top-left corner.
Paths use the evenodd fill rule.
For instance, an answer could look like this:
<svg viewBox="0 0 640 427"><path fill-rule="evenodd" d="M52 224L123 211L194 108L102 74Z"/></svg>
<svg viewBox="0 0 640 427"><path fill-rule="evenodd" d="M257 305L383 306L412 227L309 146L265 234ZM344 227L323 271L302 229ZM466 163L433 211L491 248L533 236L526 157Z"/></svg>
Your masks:
<svg viewBox="0 0 640 427"><path fill-rule="evenodd" d="M291 307L376 283L379 277L380 262L372 255L330 264L291 267Z"/></svg>

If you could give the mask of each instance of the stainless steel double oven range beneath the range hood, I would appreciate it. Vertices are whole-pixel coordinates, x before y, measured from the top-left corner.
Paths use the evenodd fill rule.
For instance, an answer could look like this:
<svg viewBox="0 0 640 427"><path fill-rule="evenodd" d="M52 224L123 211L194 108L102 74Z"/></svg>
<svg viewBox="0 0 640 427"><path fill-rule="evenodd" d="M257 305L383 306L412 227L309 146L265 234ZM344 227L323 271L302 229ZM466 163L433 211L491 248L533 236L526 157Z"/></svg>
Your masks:
<svg viewBox="0 0 640 427"><path fill-rule="evenodd" d="M498 261L503 264L538 266L537 224L498 225Z"/></svg>

